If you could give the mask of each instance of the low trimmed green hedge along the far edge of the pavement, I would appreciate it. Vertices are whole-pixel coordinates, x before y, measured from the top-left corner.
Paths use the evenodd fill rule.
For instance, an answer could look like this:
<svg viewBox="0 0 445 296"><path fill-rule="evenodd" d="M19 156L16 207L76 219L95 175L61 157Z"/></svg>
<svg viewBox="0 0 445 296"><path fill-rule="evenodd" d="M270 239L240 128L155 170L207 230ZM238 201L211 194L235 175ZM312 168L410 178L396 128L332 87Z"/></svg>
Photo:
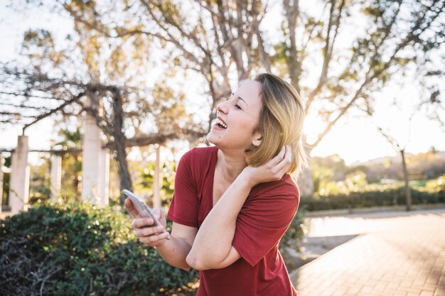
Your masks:
<svg viewBox="0 0 445 296"><path fill-rule="evenodd" d="M350 192L350 194L331 194L318 197L301 197L301 205L308 211L328 209L353 209L362 207L379 207L404 205L406 199L404 187L368 192ZM445 190L425 192L411 189L412 204L434 204L445 202Z"/></svg>

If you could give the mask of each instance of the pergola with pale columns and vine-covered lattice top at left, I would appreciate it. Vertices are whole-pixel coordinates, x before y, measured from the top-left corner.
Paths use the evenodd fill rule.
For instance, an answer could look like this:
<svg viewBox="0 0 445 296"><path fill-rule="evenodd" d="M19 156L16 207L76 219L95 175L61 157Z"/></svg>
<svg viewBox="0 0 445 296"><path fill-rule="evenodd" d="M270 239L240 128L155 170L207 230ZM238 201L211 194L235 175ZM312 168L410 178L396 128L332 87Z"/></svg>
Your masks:
<svg viewBox="0 0 445 296"><path fill-rule="evenodd" d="M130 90L132 93L134 92L134 89ZM18 136L17 146L10 151L12 153L9 190L11 214L26 210L28 207L30 177L28 152L35 150L29 149L28 137L25 133L26 128L52 114L60 113L82 116L84 120L85 133L82 147L82 199L84 201L98 204L101 207L108 204L108 149L116 151L119 163L120 187L125 188L132 186L131 180L129 180L127 163L122 161L126 160L125 148L155 145L156 162L153 187L154 200L152 203L155 207L161 205L160 146L169 139L177 138L186 138L191 143L205 136L208 131L203 128L187 126L163 133L126 138L123 132L123 97L128 95L130 90L113 85L93 82L83 83L63 78L57 79L48 77L41 72L28 72L18 68L4 67L3 72L0 71L0 94L8 97L4 100L0 97L0 124L23 125L23 133ZM31 103L32 100L37 100L40 103L33 104ZM57 105L47 104L46 102L57 102ZM107 104L106 108L104 102ZM68 111L68 106L78 108L76 111ZM37 114L30 114L27 111L37 112ZM108 143L102 143L102 133L106 133ZM57 151L52 148L40 152L51 153L51 198L57 199L60 195L61 180L61 158L58 154L67 151ZM0 185L3 183L2 180L3 176L0 172ZM1 186L0 190L2 190ZM120 202L122 202L122 197Z"/></svg>

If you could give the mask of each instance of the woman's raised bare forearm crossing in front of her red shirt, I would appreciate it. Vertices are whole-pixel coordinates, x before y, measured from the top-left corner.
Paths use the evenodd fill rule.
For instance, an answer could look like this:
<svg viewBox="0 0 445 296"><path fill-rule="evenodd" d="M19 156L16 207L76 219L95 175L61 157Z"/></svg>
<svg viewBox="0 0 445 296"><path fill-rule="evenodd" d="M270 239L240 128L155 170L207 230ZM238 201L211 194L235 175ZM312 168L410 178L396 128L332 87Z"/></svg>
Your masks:
<svg viewBox="0 0 445 296"><path fill-rule="evenodd" d="M251 189L242 174L227 188L200 226L187 257L188 265L198 269L215 268L227 258L237 216Z"/></svg>

